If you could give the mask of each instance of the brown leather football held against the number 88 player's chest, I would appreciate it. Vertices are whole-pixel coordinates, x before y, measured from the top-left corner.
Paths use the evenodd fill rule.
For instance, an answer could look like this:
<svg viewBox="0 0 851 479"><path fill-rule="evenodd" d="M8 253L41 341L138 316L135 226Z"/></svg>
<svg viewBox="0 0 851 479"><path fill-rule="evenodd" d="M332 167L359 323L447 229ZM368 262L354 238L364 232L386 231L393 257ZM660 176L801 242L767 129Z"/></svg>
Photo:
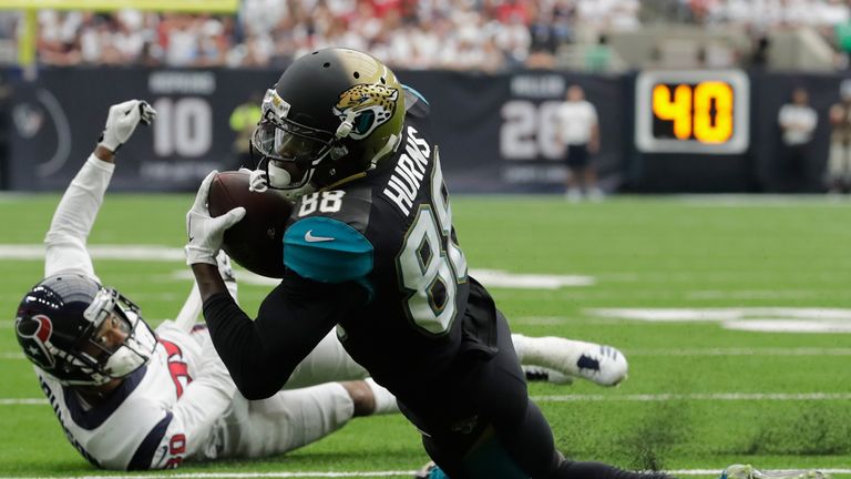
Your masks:
<svg viewBox="0 0 851 479"><path fill-rule="evenodd" d="M273 190L248 190L247 172L217 173L207 195L209 215L219 216L237 206L245 207L245 217L225 231L222 248L252 273L284 277L284 231L293 203Z"/></svg>

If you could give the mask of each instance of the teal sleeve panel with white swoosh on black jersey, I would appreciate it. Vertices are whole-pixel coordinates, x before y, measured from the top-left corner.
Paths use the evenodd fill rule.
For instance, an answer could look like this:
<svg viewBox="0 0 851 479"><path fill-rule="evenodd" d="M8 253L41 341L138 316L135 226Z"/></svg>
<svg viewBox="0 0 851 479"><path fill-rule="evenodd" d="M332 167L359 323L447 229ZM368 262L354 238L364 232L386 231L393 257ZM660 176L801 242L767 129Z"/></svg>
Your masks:
<svg viewBox="0 0 851 479"><path fill-rule="evenodd" d="M322 283L362 282L372 271L372 244L360 232L332 218L305 218L284 234L284 264Z"/></svg>

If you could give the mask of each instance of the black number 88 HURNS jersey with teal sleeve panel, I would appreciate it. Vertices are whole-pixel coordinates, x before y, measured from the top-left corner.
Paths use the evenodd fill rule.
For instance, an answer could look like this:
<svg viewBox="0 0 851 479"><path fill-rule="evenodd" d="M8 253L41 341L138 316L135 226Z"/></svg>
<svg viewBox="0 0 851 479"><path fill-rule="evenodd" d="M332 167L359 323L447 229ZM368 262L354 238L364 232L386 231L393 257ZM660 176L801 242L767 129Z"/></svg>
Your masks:
<svg viewBox="0 0 851 479"><path fill-rule="evenodd" d="M450 374L458 357L492 353L494 317L486 292L468 277L428 103L412 100L396 153L359 177L301 197L284 238L284 262L299 276L353 282L368 292L367 304L342 318L337 333L402 401Z"/></svg>

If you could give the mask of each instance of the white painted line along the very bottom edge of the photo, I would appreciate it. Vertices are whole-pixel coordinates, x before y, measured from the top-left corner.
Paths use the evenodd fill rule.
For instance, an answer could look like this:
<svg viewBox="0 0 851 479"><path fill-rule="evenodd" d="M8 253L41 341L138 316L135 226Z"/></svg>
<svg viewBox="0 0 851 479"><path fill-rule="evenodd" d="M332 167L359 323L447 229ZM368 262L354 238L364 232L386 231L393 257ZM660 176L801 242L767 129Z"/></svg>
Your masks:
<svg viewBox="0 0 851 479"><path fill-rule="evenodd" d="M718 476L726 466L714 469L674 469L666 472L678 476ZM786 472L792 469L765 469L762 472ZM851 469L845 468L813 468L808 470L819 470L831 475L848 475ZM154 478L176 478L176 479L259 479L259 478L345 478L345 477L406 477L410 478L417 471L409 470L380 470L380 471L279 471L279 472L174 472L164 471L162 473L137 473L137 475L114 475L114 476L79 476L79 479L154 479ZM51 476L60 477L60 476ZM68 476L61 476L68 477ZM41 479L38 476L0 476L0 479Z"/></svg>

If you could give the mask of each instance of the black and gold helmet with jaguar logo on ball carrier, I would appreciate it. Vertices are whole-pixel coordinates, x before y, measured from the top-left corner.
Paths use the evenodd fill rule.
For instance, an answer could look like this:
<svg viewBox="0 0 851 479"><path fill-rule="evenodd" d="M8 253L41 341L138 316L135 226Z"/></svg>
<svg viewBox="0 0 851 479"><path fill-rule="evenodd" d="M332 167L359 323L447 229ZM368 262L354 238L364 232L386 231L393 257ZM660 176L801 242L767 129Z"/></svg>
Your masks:
<svg viewBox="0 0 851 479"><path fill-rule="evenodd" d="M400 143L404 93L373 57L330 48L293 62L266 92L252 135L253 187L289 200L369 170Z"/></svg>

